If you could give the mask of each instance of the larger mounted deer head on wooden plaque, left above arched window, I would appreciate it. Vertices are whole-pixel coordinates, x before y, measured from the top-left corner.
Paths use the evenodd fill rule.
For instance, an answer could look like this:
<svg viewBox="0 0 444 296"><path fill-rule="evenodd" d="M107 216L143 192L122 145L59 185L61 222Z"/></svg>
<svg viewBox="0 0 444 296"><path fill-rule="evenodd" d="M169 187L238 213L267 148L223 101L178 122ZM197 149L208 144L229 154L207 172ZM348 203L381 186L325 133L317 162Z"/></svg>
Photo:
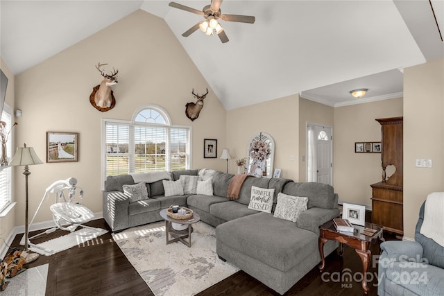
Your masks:
<svg viewBox="0 0 444 296"><path fill-rule="evenodd" d="M112 94L112 85L117 84L117 73L119 70L112 68L112 72L108 75L101 69L101 67L106 64L99 64L96 69L99 70L103 80L100 85L93 88L91 96L89 96L89 101L91 104L99 111L105 112L111 110L116 104L114 95Z"/></svg>

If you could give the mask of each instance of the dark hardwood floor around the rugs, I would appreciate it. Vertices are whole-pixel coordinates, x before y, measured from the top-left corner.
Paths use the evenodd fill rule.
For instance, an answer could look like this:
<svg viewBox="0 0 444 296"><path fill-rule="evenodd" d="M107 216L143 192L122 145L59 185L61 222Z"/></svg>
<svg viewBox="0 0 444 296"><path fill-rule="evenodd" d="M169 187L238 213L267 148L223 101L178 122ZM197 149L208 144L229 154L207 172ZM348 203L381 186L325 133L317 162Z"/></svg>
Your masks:
<svg viewBox="0 0 444 296"><path fill-rule="evenodd" d="M92 227L110 230L105 220L93 220L87 223ZM40 232L36 232L40 233ZM42 238L33 239L33 243L56 238L66 232L57 230ZM33 235L33 233L31 233ZM385 235L384 235L385 236ZM12 246L19 246L22 234L17 235ZM388 237L386 239L393 239ZM379 246L372 245L372 256L379 254ZM153 295L139 277L137 271L128 262L112 240L110 232L85 245L72 247L52 256L40 256L37 261L28 263L26 268L49 263L46 295ZM305 277L293 286L286 295L364 295L361 283L355 279L342 280L341 275L352 277L362 270L361 259L350 247L344 246L343 256L336 252L326 258L326 268L320 272L313 268ZM368 295L377 295L377 266L370 263L373 280L369 281ZM259 281L239 271L204 290L199 296L210 295L278 295Z"/></svg>

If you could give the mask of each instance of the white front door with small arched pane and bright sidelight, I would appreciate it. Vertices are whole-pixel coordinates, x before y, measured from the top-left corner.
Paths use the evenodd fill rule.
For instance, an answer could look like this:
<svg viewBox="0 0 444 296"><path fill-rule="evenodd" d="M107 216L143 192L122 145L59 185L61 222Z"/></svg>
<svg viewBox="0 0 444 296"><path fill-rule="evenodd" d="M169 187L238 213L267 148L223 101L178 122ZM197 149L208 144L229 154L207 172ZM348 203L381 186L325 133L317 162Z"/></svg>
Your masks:
<svg viewBox="0 0 444 296"><path fill-rule="evenodd" d="M316 170L316 176L311 175L307 178L311 182L320 182L324 184L333 185L333 166L332 166L332 128L309 124L309 128L313 132L312 139L309 139L309 133L307 132L307 157L311 161L307 162L309 167L307 171L314 173ZM313 153L313 155L310 155Z"/></svg>

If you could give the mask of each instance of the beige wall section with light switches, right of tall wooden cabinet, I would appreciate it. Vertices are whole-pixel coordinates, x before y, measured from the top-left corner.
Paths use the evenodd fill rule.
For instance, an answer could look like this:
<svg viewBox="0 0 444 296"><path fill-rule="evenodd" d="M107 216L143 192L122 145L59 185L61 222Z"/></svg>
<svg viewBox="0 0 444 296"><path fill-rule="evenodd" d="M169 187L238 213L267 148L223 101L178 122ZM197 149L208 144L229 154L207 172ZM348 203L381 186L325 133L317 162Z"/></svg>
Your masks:
<svg viewBox="0 0 444 296"><path fill-rule="evenodd" d="M416 168L415 159L432 159ZM444 191L444 60L404 69L404 236L414 237L427 194Z"/></svg>

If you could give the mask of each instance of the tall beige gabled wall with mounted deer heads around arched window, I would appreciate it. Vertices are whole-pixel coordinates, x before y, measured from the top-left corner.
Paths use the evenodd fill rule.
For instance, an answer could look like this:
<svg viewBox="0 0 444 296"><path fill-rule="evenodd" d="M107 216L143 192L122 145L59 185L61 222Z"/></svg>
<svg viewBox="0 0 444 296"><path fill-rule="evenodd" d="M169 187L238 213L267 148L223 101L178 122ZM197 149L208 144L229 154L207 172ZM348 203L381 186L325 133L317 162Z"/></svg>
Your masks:
<svg viewBox="0 0 444 296"><path fill-rule="evenodd" d="M113 87L116 106L99 112L89 103L92 87L101 81L94 65L108 62L119 69L119 84ZM79 161L31 166L29 177L30 214L44 190L56 180L77 177L85 190L85 204L102 211L101 122L103 118L130 120L146 104L158 105L171 116L174 125L192 127L192 168L211 167L223 171L220 159L203 159L203 139L218 139L225 146L225 109L210 90L200 116L191 122L185 104L195 101L191 89L203 92L207 82L163 19L137 10L54 55L16 77L16 143L33 146L45 161L46 132L78 132ZM220 151L219 155L220 156ZM16 196L24 195L22 169L16 169ZM36 222L51 220L50 200ZM24 202L17 204L15 225L24 225Z"/></svg>

